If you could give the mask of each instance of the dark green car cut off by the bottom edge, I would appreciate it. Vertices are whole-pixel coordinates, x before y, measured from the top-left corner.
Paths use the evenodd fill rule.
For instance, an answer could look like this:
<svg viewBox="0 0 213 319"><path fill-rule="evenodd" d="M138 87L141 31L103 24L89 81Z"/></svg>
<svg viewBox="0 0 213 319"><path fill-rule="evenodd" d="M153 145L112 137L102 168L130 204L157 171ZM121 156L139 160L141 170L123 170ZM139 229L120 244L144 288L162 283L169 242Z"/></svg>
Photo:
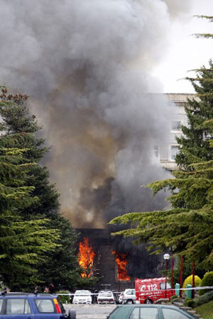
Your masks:
<svg viewBox="0 0 213 319"><path fill-rule="evenodd" d="M195 319L195 315L175 306L123 305L117 306L108 319Z"/></svg>

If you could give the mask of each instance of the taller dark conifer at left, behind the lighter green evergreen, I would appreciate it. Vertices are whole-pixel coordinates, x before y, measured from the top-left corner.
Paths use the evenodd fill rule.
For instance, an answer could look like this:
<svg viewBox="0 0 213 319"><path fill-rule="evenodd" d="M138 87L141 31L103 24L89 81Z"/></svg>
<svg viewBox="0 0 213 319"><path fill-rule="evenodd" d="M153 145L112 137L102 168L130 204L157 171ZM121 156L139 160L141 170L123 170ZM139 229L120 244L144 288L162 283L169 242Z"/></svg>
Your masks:
<svg viewBox="0 0 213 319"><path fill-rule="evenodd" d="M39 162L45 152L44 140L35 138L40 130L35 116L28 111L28 96L22 94L9 94L6 87L1 87L0 115L4 126L4 135L1 136L3 147L25 148L22 163L31 163L26 172L25 186L32 187L31 197L36 198L28 206L22 206L18 212L24 220L31 221L36 218L48 218L47 227L57 228L60 237L55 251L48 252L45 260L38 266L40 282L43 285L59 284L73 286L80 279L80 267L75 255L76 233L70 223L65 220L59 210L59 195L55 185L48 181L49 172Z"/></svg>

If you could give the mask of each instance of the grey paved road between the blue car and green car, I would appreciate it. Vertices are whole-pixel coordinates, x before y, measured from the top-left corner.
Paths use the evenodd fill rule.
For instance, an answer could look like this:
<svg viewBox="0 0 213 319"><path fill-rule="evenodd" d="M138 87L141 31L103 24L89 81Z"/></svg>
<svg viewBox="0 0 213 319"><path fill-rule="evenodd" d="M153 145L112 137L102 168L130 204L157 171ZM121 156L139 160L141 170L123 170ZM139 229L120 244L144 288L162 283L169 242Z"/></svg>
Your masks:
<svg viewBox="0 0 213 319"><path fill-rule="evenodd" d="M65 304L65 310L76 311L76 319L106 319L107 315L116 307L116 305L74 305Z"/></svg>

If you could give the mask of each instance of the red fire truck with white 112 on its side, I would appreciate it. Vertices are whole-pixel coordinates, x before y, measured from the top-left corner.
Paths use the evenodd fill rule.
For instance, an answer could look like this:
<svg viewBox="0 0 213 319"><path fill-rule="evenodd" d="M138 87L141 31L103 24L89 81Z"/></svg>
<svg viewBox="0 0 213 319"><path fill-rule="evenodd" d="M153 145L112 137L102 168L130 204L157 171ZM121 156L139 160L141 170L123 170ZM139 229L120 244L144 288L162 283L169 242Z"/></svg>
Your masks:
<svg viewBox="0 0 213 319"><path fill-rule="evenodd" d="M168 298L175 294L168 279L165 287L165 277L151 279L136 279L136 301L140 303L154 303L160 298ZM165 289L166 288L166 289Z"/></svg>

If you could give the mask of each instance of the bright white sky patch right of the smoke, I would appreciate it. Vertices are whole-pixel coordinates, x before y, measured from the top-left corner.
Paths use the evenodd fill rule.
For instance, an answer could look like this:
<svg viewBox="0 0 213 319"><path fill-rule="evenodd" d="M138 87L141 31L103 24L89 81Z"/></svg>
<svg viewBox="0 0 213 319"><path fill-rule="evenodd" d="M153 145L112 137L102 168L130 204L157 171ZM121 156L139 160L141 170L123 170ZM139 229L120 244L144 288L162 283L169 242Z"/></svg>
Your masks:
<svg viewBox="0 0 213 319"><path fill-rule="evenodd" d="M173 1L178 0L170 2ZM194 15L213 16L213 1L192 0L188 11L171 21L168 49L153 70L164 93L194 93L190 82L183 78L193 75L187 72L190 69L207 67L209 59L213 58L213 41L192 36L193 33L213 33L212 23Z"/></svg>

